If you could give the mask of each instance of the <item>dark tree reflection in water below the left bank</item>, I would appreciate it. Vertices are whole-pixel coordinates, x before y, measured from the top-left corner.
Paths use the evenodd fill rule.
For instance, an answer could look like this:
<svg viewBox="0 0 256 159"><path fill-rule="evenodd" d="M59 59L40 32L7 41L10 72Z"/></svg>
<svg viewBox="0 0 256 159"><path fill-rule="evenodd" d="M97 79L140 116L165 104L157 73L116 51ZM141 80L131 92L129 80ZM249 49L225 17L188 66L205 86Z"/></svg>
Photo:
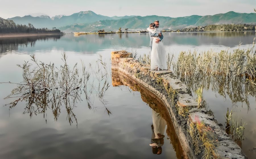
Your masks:
<svg viewBox="0 0 256 159"><path fill-rule="evenodd" d="M60 39L62 34L58 35L42 35L42 36L27 36L27 37L16 37L16 38L4 38L0 39L0 53L12 52L18 50L18 46L22 47L34 47L36 41L46 41Z"/></svg>

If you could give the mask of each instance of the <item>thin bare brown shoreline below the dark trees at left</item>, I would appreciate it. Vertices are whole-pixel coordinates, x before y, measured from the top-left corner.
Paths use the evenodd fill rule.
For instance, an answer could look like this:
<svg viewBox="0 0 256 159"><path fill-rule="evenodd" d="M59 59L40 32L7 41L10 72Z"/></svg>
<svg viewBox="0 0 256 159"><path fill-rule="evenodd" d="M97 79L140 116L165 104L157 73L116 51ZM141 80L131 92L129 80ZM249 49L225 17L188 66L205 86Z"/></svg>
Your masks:
<svg viewBox="0 0 256 159"><path fill-rule="evenodd" d="M0 33L0 38L14 38L26 36L61 35L63 33Z"/></svg>

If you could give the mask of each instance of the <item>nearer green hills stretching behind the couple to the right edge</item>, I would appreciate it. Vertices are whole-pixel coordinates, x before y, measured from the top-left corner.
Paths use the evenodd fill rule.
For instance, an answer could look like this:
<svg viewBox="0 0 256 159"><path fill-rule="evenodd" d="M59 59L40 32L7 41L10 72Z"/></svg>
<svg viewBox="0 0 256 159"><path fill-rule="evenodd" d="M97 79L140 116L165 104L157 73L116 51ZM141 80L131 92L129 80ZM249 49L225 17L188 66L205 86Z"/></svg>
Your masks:
<svg viewBox="0 0 256 159"><path fill-rule="evenodd" d="M171 18L166 16L134 16L132 18L119 20L100 20L88 24L73 24L60 29L66 32L91 31L104 29L105 31L116 31L121 28L139 29L147 28L150 22L160 21L163 29L177 30L185 27L206 26L210 24L256 24L256 13L236 13L228 12L217 15L198 16L191 15L185 17Z"/></svg>

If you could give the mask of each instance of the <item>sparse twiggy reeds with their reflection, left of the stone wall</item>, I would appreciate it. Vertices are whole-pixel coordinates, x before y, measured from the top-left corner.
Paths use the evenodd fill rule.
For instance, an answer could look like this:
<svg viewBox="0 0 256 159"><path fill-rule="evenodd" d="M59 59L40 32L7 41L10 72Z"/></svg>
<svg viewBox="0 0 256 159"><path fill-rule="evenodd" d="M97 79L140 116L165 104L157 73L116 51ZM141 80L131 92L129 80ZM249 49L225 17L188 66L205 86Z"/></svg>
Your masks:
<svg viewBox="0 0 256 159"><path fill-rule="evenodd" d="M111 114L104 100L105 92L110 84L107 82L108 71L106 63L102 61L102 56L96 61L95 66L90 64L89 69L86 69L82 63L82 73L79 72L77 63L72 68L69 67L65 53L62 58L64 65L59 69L53 63L38 63L34 55L31 58L35 67L28 62L25 62L23 66L18 65L23 70L24 81L15 83L17 87L5 97L5 99L15 98L13 102L7 104L11 105L10 109L15 107L19 101L26 101L23 113L29 113L30 117L43 113L45 117L47 109L51 109L57 121L61 106L65 106L69 123L73 123L73 119L77 123L73 109L76 103L82 100L81 94L84 92L90 109L94 108L93 103L90 102L90 96L96 94L108 111L108 115Z"/></svg>

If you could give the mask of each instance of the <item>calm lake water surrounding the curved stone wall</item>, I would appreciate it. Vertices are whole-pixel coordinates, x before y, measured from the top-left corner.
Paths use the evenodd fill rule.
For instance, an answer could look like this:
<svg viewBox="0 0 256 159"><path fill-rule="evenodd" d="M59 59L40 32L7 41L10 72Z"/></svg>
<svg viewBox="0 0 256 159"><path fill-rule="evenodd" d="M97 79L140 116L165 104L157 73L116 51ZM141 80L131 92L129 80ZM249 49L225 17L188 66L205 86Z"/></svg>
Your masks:
<svg viewBox="0 0 256 159"><path fill-rule="evenodd" d="M220 51L252 45L256 32L204 32L204 33L164 33L166 51L175 58L179 51L198 52L213 49ZM63 36L40 36L0 39L0 82L22 82L24 61L32 62L30 55L38 61L63 65L61 60L65 51L70 66L83 61L92 63L102 55L108 66L108 82L112 84L110 54L113 50L137 51L138 56L149 53L148 34L101 34ZM80 66L80 65L79 65ZM122 76L123 77L123 76ZM126 77L129 79L128 77ZM115 79L115 78L114 78ZM127 81L127 80L126 80ZM152 108L163 108L160 100L131 82L119 82L106 91L106 107L93 97L94 107L90 110L86 100L80 101L73 109L77 123L69 123L67 111L62 107L57 121L53 111L48 108L42 113L26 112L26 102L15 107L3 106L11 99L3 100L16 87L15 84L0 84L0 158L186 158L177 140L172 122L165 111L158 113L166 120L162 154L152 153L151 140ZM116 81L114 81L116 82ZM254 90L253 88L249 88ZM236 94L234 91L231 94ZM241 147L249 158L256 155L256 99L249 93L248 102L235 102L230 96L224 98L218 90L203 90L209 109L214 112L219 123L225 125L226 110L242 119L245 125L245 140ZM249 108L248 109L248 103ZM162 109L162 110L163 110ZM46 122L47 121L47 122Z"/></svg>

